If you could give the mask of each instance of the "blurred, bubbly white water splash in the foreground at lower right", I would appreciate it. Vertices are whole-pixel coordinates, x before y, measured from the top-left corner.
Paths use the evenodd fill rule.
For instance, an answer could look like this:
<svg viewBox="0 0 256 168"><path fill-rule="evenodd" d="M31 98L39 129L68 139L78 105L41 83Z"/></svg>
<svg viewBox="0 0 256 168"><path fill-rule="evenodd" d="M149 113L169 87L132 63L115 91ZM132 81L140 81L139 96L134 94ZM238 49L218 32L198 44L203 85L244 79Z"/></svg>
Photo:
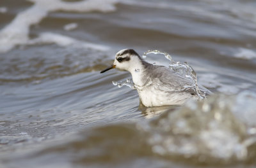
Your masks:
<svg viewBox="0 0 256 168"><path fill-rule="evenodd" d="M252 151L256 129L255 120L249 119L248 125L244 113L253 118L255 105L241 97L256 100L255 93L248 92L211 95L205 101L189 101L141 128L150 131L148 143L153 152L164 157L183 155L186 159L197 157L199 162L213 163L216 159L223 163L249 160L253 158L250 155L255 155ZM202 155L204 160L200 159Z"/></svg>

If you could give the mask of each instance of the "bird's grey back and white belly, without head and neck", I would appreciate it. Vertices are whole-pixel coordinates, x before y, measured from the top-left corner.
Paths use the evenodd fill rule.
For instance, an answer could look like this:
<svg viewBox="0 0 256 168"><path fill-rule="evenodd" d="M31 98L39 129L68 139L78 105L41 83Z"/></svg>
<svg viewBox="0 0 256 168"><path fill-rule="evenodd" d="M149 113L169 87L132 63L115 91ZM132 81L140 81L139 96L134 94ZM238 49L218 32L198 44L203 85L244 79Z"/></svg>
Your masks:
<svg viewBox="0 0 256 168"><path fill-rule="evenodd" d="M148 64L144 73L144 80L151 81L152 85L147 92L141 92L141 95L144 99L150 99L154 106L183 104L190 98L198 97L193 87L193 80L168 67ZM199 86L199 89L206 94L211 94L205 87ZM151 98L148 98L148 95L146 97L146 93L150 94Z"/></svg>

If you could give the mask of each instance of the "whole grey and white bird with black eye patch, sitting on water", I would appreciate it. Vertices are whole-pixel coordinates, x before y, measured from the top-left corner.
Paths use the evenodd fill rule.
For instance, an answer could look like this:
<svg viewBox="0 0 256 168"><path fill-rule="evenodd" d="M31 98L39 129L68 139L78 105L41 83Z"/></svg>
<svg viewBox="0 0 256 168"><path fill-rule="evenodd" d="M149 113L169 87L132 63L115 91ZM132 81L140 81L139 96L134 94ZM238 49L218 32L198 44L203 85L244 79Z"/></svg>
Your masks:
<svg viewBox="0 0 256 168"><path fill-rule="evenodd" d="M146 107L182 105L189 99L198 99L191 80L169 67L150 64L133 49L120 50L114 63L100 71L105 73L116 68L129 71L140 102ZM200 92L211 94L207 88L198 85Z"/></svg>

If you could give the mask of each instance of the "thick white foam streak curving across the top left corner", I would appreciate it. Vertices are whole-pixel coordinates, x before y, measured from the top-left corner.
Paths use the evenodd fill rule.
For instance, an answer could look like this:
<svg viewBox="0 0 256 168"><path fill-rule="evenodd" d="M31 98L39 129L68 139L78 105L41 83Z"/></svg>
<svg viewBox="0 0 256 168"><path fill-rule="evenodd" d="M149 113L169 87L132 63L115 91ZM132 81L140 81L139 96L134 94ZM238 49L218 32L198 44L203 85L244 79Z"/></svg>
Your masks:
<svg viewBox="0 0 256 168"><path fill-rule="evenodd" d="M8 52L17 45L29 42L29 27L38 24L51 11L114 11L116 0L88 0L64 2L61 0L30 0L35 3L28 10L20 12L13 21L0 31L0 53Z"/></svg>

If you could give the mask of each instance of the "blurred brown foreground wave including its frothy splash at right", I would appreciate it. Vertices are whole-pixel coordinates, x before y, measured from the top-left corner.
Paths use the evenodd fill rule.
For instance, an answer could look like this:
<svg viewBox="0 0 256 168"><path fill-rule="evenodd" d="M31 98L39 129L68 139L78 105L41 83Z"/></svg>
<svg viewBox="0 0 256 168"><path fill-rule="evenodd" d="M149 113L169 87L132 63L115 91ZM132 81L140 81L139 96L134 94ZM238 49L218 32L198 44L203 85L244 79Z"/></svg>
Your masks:
<svg viewBox="0 0 256 168"><path fill-rule="evenodd" d="M184 167L255 164L255 101L256 94L252 92L241 92L235 97L211 95L205 101L190 101L178 109L167 109L153 120L94 127L69 136L61 144L50 143L26 155L22 151L22 157L5 161L27 167L29 160L34 164L70 165L67 167L140 167L138 160L147 166L153 160L154 167L163 162L180 162Z"/></svg>

